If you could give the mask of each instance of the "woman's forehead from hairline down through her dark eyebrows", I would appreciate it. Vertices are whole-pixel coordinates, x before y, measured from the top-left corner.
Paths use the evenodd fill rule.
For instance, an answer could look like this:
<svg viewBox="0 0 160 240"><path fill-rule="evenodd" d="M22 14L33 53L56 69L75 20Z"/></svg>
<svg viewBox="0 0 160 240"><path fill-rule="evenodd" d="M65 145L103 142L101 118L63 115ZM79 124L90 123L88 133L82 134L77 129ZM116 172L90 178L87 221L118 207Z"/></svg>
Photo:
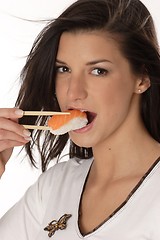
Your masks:
<svg viewBox="0 0 160 240"><path fill-rule="evenodd" d="M115 65L127 63L118 41L106 31L64 32L60 38L57 61L79 65L105 59Z"/></svg>

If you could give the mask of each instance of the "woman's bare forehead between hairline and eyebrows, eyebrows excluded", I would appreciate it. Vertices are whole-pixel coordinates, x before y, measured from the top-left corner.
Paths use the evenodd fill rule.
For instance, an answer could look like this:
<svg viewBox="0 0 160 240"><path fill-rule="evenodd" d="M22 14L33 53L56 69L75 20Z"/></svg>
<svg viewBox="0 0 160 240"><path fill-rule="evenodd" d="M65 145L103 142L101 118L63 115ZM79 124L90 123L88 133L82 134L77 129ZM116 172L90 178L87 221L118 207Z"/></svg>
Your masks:
<svg viewBox="0 0 160 240"><path fill-rule="evenodd" d="M64 32L58 47L58 56L91 54L122 57L119 42L114 35L102 30Z"/></svg>

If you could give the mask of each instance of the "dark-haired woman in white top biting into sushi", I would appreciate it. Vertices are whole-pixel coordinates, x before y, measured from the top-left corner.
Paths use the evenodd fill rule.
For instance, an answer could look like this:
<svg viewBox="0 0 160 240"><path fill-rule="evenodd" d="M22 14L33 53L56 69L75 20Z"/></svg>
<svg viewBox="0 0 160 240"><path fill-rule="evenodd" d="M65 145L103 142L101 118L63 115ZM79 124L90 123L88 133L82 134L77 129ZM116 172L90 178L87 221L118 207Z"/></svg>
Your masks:
<svg viewBox="0 0 160 240"><path fill-rule="evenodd" d="M42 144L40 131L30 141L20 124L47 119L1 109L3 166L13 146L30 141L31 162L37 144L45 171L70 139L70 159L42 174L1 219L1 238L159 239L160 58L146 7L75 2L39 35L21 77L20 109L78 109L89 124L62 136L45 132Z"/></svg>

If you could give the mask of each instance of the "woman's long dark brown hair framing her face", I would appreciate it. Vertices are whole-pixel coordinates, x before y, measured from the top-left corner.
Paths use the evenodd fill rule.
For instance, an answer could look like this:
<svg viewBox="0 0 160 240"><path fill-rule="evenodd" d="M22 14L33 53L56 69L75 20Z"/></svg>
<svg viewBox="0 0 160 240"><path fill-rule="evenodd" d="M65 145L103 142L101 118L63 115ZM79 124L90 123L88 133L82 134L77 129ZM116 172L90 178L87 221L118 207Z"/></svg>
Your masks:
<svg viewBox="0 0 160 240"><path fill-rule="evenodd" d="M55 95L55 60L64 31L103 30L116 36L122 54L135 73L145 69L151 87L142 94L141 114L148 132L160 142L160 57L152 17L139 0L78 0L42 30L29 53L21 73L21 89L16 106L23 110L60 111ZM40 124L45 117L24 117L23 124ZM54 136L50 132L32 131L32 141L25 148L35 165L34 146L41 155L42 171L51 159L59 158L68 133ZM91 148L72 141L70 157L90 158Z"/></svg>

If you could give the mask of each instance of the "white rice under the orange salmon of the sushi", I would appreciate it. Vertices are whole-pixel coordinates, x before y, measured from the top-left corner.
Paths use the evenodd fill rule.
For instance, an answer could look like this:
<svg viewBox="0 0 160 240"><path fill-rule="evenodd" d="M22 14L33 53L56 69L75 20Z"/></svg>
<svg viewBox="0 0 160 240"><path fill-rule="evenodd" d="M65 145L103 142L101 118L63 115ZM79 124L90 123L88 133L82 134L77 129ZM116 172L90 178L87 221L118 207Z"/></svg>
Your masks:
<svg viewBox="0 0 160 240"><path fill-rule="evenodd" d="M53 128L50 128L50 132L53 133L54 135L62 135L69 131L80 129L86 126L87 123L88 123L87 118L76 117L70 120L67 124L60 127L59 129L54 130Z"/></svg>

